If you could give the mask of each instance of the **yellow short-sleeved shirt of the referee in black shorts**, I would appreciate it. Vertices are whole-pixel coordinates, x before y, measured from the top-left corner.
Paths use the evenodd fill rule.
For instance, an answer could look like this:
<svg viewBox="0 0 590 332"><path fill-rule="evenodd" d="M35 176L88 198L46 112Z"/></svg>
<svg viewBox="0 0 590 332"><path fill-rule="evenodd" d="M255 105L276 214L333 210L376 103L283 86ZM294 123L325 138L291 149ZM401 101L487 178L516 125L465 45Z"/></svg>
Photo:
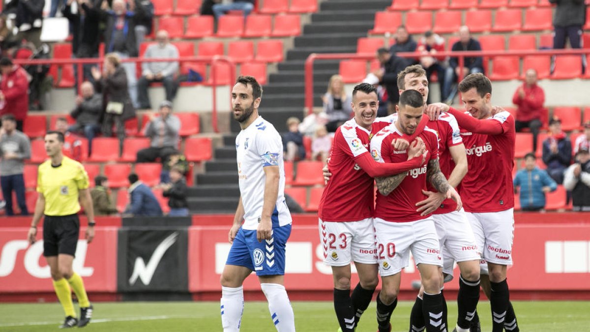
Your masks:
<svg viewBox="0 0 590 332"><path fill-rule="evenodd" d="M51 160L39 165L37 191L45 197L46 216L68 216L80 211L78 190L90 185L84 166L64 156L61 165L53 167Z"/></svg>

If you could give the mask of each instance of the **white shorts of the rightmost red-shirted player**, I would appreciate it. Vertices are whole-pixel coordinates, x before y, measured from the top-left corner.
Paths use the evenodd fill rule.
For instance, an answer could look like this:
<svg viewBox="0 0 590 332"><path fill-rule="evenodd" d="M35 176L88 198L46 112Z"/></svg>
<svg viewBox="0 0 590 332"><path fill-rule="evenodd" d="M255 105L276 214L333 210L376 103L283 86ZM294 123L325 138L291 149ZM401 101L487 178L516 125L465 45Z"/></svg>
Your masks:
<svg viewBox="0 0 590 332"><path fill-rule="evenodd" d="M476 237L481 258L490 263L512 265L514 209L487 213L467 212L466 215Z"/></svg>

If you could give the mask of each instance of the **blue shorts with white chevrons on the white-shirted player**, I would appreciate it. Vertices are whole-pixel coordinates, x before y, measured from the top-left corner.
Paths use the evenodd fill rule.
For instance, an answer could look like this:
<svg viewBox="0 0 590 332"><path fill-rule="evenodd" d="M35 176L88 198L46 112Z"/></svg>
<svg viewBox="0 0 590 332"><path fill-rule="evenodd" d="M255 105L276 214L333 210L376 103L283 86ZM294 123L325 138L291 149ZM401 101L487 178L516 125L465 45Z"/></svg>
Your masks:
<svg viewBox="0 0 590 332"><path fill-rule="evenodd" d="M291 224L274 227L270 240L258 242L256 230L240 228L225 264L245 266L256 272L256 275L284 275L285 244L289 235Z"/></svg>

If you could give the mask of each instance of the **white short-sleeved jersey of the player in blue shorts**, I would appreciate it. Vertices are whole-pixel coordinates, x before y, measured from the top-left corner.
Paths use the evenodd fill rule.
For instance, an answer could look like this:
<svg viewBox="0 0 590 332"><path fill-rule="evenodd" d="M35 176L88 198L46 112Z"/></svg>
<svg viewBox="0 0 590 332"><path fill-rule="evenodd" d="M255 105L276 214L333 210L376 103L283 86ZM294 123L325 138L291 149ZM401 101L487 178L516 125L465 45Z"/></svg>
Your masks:
<svg viewBox="0 0 590 332"><path fill-rule="evenodd" d="M280 178L278 195L271 216L273 227L291 223L291 214L285 202L285 171L283 141L274 126L258 116L248 128L235 138L240 194L244 205L243 229L255 230L262 216L266 174L264 167L278 166Z"/></svg>

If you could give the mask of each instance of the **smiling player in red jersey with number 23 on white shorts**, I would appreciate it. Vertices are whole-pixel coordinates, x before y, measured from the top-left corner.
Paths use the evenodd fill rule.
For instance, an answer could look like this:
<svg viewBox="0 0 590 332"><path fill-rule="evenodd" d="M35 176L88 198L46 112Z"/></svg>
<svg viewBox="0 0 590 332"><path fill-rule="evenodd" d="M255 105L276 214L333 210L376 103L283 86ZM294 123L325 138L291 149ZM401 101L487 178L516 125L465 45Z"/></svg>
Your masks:
<svg viewBox="0 0 590 332"><path fill-rule="evenodd" d="M407 172L424 163L421 142L412 142L404 161L380 164L369 154L369 139L388 121L375 121L378 96L371 84L361 83L352 92L355 117L336 129L328 163L332 177L318 211L324 262L332 266L334 308L342 331L353 331L379 282L373 232L373 177ZM355 262L360 282L350 295L350 262Z"/></svg>

